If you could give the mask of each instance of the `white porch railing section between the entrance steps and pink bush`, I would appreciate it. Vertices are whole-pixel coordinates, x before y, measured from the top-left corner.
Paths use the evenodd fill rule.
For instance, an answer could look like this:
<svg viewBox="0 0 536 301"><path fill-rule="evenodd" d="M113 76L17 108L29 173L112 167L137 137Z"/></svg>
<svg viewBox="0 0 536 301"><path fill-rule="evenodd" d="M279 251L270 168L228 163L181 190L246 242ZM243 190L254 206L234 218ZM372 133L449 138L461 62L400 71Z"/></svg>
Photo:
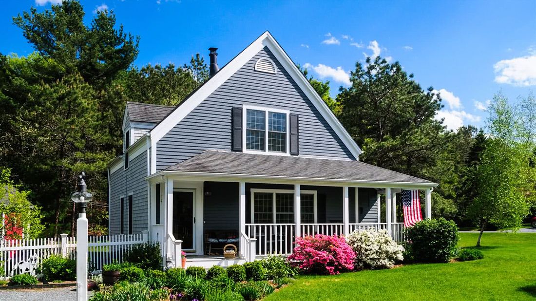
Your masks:
<svg viewBox="0 0 536 301"><path fill-rule="evenodd" d="M245 234L256 239L256 254L290 255L294 248L294 224L245 224Z"/></svg>

